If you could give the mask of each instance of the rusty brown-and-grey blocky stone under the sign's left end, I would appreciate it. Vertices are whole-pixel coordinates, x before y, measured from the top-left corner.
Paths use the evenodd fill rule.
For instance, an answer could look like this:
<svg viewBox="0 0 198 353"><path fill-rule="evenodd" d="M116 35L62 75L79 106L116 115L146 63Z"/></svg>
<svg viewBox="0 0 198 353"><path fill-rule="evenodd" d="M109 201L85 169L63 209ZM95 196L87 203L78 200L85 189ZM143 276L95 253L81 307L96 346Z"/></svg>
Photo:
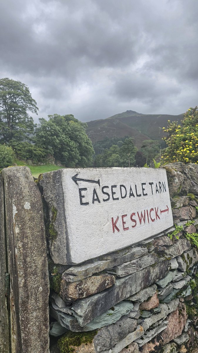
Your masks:
<svg viewBox="0 0 198 353"><path fill-rule="evenodd" d="M60 297L65 302L86 298L89 295L110 288L115 281L115 277L109 274L91 276L73 283L62 280L60 284Z"/></svg>

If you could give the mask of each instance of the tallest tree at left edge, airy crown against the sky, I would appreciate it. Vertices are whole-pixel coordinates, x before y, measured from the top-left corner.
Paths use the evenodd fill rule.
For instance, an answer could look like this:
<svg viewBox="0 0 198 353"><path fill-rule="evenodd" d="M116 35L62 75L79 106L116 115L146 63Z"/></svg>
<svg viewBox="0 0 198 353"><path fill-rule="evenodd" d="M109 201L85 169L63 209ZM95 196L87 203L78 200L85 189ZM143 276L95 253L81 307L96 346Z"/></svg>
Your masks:
<svg viewBox="0 0 198 353"><path fill-rule="evenodd" d="M0 131L1 143L23 141L33 133L34 123L27 112L37 114L36 101L29 88L20 81L0 79Z"/></svg>

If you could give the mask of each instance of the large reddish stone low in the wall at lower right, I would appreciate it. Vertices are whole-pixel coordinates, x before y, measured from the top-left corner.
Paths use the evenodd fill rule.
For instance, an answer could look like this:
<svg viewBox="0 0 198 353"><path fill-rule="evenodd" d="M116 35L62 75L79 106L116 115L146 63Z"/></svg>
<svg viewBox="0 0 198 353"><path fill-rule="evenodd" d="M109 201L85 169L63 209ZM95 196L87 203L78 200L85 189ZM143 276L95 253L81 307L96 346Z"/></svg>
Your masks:
<svg viewBox="0 0 198 353"><path fill-rule="evenodd" d="M181 335L187 320L185 304L179 303L178 308L170 313L166 320L168 321L167 328L161 333L164 345Z"/></svg>

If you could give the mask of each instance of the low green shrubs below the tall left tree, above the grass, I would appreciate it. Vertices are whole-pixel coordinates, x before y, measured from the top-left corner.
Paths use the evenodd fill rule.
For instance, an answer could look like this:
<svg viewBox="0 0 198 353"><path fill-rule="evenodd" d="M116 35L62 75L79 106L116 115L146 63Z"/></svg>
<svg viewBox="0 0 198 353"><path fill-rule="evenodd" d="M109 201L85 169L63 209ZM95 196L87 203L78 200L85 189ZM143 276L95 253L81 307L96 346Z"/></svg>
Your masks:
<svg viewBox="0 0 198 353"><path fill-rule="evenodd" d="M45 157L45 151L42 146L32 144L30 142L13 141L11 146L18 158L22 160L31 160L33 163L38 163Z"/></svg>

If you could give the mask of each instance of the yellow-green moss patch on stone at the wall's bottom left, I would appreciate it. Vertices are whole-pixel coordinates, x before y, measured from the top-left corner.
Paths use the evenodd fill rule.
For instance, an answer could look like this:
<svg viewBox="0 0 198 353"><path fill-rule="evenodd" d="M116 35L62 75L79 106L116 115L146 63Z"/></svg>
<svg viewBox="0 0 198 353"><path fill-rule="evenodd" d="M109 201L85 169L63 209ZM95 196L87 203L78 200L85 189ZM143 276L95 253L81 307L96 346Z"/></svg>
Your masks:
<svg viewBox="0 0 198 353"><path fill-rule="evenodd" d="M61 353L75 353L74 347L80 347L82 344L92 343L97 330L88 332L69 332L64 334L57 342Z"/></svg>

